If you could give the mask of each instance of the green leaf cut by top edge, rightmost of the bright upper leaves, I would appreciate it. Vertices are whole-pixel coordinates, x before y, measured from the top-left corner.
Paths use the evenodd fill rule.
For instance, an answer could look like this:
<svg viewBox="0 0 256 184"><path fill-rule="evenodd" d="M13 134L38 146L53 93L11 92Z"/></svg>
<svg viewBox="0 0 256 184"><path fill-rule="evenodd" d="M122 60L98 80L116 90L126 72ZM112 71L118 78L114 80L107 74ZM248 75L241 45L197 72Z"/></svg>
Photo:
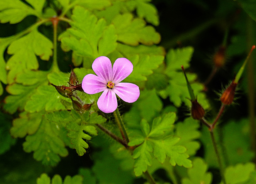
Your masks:
<svg viewBox="0 0 256 184"><path fill-rule="evenodd" d="M158 11L153 4L148 2L150 2L150 0L131 0L127 2L127 5L131 11L136 9L138 17L145 18L147 22L158 26Z"/></svg>

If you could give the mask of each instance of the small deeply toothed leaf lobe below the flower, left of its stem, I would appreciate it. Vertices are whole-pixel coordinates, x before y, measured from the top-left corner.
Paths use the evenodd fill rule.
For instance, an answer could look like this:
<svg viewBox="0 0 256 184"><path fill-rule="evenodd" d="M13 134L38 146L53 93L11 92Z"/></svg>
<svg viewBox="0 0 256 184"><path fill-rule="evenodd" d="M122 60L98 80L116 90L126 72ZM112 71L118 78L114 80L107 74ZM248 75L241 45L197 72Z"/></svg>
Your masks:
<svg viewBox="0 0 256 184"><path fill-rule="evenodd" d="M83 156L86 152L85 149L89 147L84 139L90 140L92 138L90 135L97 135L95 127L91 125L78 125L77 123L69 123L66 126L66 129L68 129L68 137L71 138L71 143L76 149L76 152L79 156Z"/></svg>

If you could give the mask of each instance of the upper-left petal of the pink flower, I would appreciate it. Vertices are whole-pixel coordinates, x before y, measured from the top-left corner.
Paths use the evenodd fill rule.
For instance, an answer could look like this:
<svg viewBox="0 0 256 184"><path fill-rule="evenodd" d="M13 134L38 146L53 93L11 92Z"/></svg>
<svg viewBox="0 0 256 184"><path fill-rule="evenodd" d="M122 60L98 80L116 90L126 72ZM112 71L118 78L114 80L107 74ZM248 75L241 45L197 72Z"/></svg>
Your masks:
<svg viewBox="0 0 256 184"><path fill-rule="evenodd" d="M97 57L92 63L92 69L105 83L112 79L112 64L108 57Z"/></svg>

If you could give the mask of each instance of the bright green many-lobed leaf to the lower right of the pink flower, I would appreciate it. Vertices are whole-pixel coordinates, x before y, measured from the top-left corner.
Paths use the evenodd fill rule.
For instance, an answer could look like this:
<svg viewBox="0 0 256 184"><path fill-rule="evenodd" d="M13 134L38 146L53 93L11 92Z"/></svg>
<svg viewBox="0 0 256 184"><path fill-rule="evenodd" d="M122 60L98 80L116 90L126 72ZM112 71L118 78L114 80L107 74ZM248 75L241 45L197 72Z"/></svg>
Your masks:
<svg viewBox="0 0 256 184"><path fill-rule="evenodd" d="M189 156L186 154L186 148L178 145L180 138L173 135L174 120L175 113L155 118L150 132L148 131L149 125L142 120L141 127L144 134L138 132L130 136L128 145L135 146L135 143L139 145L135 148L132 156L135 159L134 173L136 176L140 176L151 165L152 152L160 163L164 163L168 156L172 166L178 164L186 168L192 167L191 161L188 159ZM147 132L149 133L145 136ZM144 137L144 142L142 137Z"/></svg>

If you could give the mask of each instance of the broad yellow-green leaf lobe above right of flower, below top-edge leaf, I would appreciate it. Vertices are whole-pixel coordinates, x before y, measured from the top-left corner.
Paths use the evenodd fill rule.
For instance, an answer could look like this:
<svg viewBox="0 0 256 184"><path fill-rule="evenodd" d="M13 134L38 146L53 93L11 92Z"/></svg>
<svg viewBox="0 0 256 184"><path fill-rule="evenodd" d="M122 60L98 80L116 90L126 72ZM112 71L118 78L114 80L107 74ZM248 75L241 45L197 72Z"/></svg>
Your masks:
<svg viewBox="0 0 256 184"><path fill-rule="evenodd" d="M118 41L131 46L140 43L151 46L160 42L158 34L152 26L146 26L146 22L140 18L133 18L132 14L118 15L112 20L116 27Z"/></svg>

